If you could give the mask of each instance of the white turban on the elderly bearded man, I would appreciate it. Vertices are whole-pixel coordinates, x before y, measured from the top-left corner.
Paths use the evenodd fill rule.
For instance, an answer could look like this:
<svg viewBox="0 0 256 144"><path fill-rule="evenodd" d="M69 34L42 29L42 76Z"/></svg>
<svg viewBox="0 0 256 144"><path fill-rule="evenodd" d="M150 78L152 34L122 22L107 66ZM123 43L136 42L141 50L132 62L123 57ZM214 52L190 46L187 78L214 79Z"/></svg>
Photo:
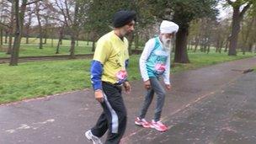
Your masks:
<svg viewBox="0 0 256 144"><path fill-rule="evenodd" d="M160 25L161 34L177 33L178 30L179 30L179 25L168 20L163 20L163 22Z"/></svg>

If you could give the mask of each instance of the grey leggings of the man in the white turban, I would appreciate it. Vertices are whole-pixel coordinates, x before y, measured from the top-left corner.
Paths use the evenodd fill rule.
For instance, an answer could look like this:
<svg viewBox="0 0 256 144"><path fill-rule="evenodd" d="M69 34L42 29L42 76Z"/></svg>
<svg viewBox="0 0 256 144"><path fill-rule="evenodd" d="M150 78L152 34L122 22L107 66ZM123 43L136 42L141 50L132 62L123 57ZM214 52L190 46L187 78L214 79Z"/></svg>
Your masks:
<svg viewBox="0 0 256 144"><path fill-rule="evenodd" d="M157 93L157 104L155 108L154 120L158 121L160 120L161 117L166 92L157 77L150 77L149 79L151 83L151 88L147 90L139 117L141 119L145 118L145 115L147 114L147 109L149 105L152 103L153 95L154 93Z"/></svg>

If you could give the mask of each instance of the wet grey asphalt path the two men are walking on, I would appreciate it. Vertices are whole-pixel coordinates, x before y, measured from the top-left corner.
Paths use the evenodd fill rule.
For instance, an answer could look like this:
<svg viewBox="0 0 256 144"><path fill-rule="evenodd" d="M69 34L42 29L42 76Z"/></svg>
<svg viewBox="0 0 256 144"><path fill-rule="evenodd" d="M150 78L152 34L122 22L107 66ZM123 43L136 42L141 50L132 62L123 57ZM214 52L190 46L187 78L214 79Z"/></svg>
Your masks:
<svg viewBox="0 0 256 144"><path fill-rule="evenodd" d="M132 92L123 95L128 121L122 143L256 143L256 72L243 74L252 67L255 57L173 75L163 108L166 132L134 125L144 89L132 82ZM101 110L91 89L0 105L0 144L91 143L84 131Z"/></svg>

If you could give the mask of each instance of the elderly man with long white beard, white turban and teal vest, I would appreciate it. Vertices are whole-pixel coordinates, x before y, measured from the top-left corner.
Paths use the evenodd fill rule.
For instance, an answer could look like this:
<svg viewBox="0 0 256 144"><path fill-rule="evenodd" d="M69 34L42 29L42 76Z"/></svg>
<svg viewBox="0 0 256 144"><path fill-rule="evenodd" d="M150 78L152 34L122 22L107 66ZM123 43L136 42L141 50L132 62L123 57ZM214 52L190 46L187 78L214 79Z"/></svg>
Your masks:
<svg viewBox="0 0 256 144"><path fill-rule="evenodd" d="M160 120L166 95L166 92L160 83L160 77L163 77L165 88L170 90L171 41L178 30L178 24L163 20L160 25L160 35L148 40L144 47L140 58L140 70L147 92L139 111L139 115L136 117L136 125L145 128L151 127L157 131L168 130L168 126L163 125ZM147 122L145 116L149 105L152 103L154 93L157 94L155 115L152 122Z"/></svg>

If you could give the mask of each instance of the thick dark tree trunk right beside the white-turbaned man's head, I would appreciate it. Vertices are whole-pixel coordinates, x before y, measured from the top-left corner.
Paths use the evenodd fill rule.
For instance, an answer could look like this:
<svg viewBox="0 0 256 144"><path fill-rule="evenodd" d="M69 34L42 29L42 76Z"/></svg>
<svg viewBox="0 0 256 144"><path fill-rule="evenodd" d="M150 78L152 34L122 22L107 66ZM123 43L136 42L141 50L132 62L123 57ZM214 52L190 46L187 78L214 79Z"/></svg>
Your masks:
<svg viewBox="0 0 256 144"><path fill-rule="evenodd" d="M175 41L176 47L175 47L174 62L189 63L189 56L186 49L188 35L189 35L188 27L179 28L179 31L176 35L176 41Z"/></svg>

